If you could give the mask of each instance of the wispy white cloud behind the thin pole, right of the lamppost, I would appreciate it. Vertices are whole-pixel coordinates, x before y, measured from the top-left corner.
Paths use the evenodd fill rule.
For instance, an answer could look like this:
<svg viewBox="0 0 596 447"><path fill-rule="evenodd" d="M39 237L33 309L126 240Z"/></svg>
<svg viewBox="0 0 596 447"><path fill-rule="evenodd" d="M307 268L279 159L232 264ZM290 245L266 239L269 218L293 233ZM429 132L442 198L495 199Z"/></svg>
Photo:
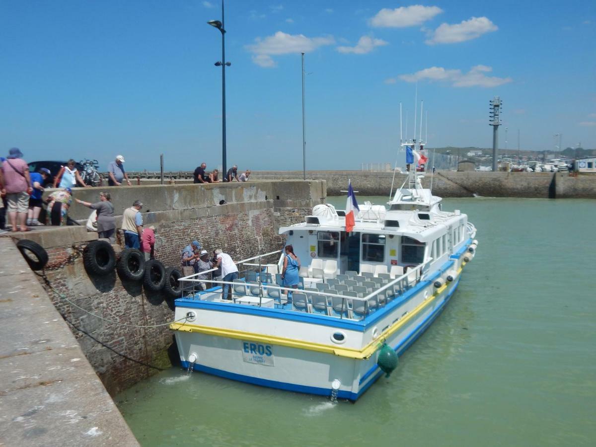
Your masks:
<svg viewBox="0 0 596 447"><path fill-rule="evenodd" d="M319 46L333 45L333 36L308 38L302 34L286 34L278 31L266 38L256 38L253 45L246 45L246 49L253 53L253 62L261 67L275 67L272 55L312 52Z"/></svg>

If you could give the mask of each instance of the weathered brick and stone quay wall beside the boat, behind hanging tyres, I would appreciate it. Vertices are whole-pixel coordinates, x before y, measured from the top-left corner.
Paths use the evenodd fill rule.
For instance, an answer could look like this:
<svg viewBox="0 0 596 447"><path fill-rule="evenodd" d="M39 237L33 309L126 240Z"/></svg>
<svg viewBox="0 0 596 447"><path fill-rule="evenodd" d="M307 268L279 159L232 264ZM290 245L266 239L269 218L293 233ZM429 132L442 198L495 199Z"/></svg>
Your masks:
<svg viewBox="0 0 596 447"><path fill-rule="evenodd" d="M144 224L156 227L156 258L166 267L180 266L181 250L193 240L200 241L207 250L221 248L234 260L281 249L279 226L302 222L315 204L324 203L326 196L323 181L149 185L105 190L112 194L117 213L137 198L143 201ZM97 201L99 191L77 188L74 194L85 201ZM221 200L226 204L219 205ZM89 209L73 204L70 214L86 218ZM171 300L162 292L145 290L140 282L122 280L116 271L104 277L90 277L83 266L82 250L97 234L86 232L84 226L47 228L23 235L48 252L48 268L41 283L111 395L170 367L178 352L167 326L132 328L108 321L144 326L164 324L173 319ZM270 257L269 262L277 259ZM77 309L60 294L108 321Z"/></svg>

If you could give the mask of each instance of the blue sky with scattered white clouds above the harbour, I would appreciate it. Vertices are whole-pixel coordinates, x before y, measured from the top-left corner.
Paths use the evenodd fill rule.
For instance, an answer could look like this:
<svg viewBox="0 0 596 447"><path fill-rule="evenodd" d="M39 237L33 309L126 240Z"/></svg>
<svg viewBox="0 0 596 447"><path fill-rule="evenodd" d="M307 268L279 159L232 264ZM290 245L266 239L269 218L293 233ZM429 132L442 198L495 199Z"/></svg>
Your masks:
<svg viewBox="0 0 596 447"><path fill-rule="evenodd" d="M0 0L0 155L221 167L221 15L216 0ZM306 169L395 163L416 95L427 147L492 147L498 95L500 148L518 129L522 150L555 134L596 148L594 1L227 0L224 26L228 167L302 169L302 51Z"/></svg>

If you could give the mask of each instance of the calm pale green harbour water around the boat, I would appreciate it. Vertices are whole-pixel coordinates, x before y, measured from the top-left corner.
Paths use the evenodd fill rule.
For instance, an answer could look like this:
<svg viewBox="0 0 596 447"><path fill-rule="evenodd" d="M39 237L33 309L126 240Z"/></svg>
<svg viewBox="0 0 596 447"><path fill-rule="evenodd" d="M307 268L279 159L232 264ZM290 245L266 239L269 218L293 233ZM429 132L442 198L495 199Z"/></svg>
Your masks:
<svg viewBox="0 0 596 447"><path fill-rule="evenodd" d="M443 209L468 214L477 255L389 379L334 405L172 368L117 396L141 445L595 445L596 201Z"/></svg>

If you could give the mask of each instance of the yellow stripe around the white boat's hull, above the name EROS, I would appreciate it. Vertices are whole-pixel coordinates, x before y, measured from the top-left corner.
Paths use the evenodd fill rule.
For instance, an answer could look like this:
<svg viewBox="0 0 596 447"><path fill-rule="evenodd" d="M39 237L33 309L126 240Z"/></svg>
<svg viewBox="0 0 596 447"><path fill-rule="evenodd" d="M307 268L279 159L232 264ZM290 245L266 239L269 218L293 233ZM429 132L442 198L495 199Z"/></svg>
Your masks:
<svg viewBox="0 0 596 447"><path fill-rule="evenodd" d="M461 267L458 269L458 276L461 272ZM259 342L265 344L277 344L279 346L294 347L297 349L306 349L315 352L322 352L326 354L334 354L340 357L347 357L351 359L368 359L378 349L378 344L381 340L385 340L399 331L404 325L415 318L418 313L422 312L430 305L445 289L447 284L443 284L437 288L435 293L429 296L426 300L421 302L416 308L409 312L406 316L393 323L390 327L383 331L376 339L368 343L367 346L361 349L352 349L349 347L337 347L330 344L322 344L315 342L305 342L303 340L288 339L286 337L271 336L266 334L257 334L253 332L238 331L234 329L216 328L209 326L201 326L191 323L172 323L170 329L181 332L194 332L198 334L205 334L209 336L227 337L229 339L250 340L251 342Z"/></svg>

